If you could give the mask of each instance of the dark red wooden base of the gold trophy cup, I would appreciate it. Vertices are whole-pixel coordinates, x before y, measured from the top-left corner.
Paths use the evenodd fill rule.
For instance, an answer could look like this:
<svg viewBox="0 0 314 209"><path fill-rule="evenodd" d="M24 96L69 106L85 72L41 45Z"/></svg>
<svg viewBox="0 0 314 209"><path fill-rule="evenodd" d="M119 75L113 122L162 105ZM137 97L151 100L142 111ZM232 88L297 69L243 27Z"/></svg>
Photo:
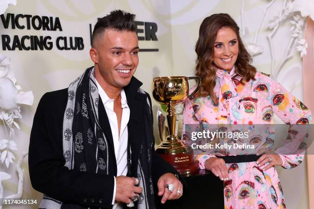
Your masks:
<svg viewBox="0 0 314 209"><path fill-rule="evenodd" d="M184 144L183 144L184 145ZM176 152L177 149L165 149L159 146L156 152L164 158L167 162L173 165L173 167L182 176L190 176L198 173L199 166L194 162L193 150L191 147L185 146L180 148L180 153Z"/></svg>

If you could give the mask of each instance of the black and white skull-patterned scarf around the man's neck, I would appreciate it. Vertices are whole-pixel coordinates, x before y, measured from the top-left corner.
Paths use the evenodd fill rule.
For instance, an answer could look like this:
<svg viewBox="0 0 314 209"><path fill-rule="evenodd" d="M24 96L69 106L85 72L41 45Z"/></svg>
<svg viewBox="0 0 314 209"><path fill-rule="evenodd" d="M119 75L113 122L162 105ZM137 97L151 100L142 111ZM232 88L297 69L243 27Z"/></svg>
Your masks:
<svg viewBox="0 0 314 209"><path fill-rule="evenodd" d="M141 88L138 93L146 94ZM143 188L137 205L140 209L155 208L150 159L153 132L148 98L147 102L147 108L144 110L146 120L144 134L147 140L141 144L136 176L140 179L140 186ZM94 68L89 68L68 88L68 102L63 120L63 153L66 160L65 166L69 170L110 174L108 141L99 123L98 106L99 93L95 82ZM61 205L62 202L53 201L52 198L44 196L40 208L59 209Z"/></svg>

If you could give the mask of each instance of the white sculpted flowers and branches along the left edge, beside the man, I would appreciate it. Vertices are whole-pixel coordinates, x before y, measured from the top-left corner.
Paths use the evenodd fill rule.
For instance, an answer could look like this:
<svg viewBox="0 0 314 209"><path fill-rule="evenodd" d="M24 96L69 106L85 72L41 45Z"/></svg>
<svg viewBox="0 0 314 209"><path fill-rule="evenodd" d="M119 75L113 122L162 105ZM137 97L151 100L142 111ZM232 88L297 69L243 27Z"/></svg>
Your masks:
<svg viewBox="0 0 314 209"><path fill-rule="evenodd" d="M2 0L0 2L0 14L3 14L9 5L16 5L16 0ZM21 119L21 110L19 105L32 105L34 96L31 91L22 92L21 87L16 85L16 78L11 70L11 59L0 54L0 129L4 129L6 134L0 136L0 170L4 170L4 166L9 168L10 163L15 160L14 151L17 151L17 144L12 139L14 130L19 129L17 119ZM21 169L21 163L26 152L22 153L22 157L16 164L18 173L17 193L4 198L21 198L23 193L24 171ZM11 175L0 172L0 199L3 198L2 181L8 180ZM0 209L2 205L0 205Z"/></svg>

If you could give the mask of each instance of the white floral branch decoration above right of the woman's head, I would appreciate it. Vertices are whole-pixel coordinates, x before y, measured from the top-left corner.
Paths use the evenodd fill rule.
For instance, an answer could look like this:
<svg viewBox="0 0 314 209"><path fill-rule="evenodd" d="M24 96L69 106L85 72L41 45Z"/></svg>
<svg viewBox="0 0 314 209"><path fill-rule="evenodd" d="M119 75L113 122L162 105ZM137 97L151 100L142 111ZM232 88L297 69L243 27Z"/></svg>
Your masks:
<svg viewBox="0 0 314 209"><path fill-rule="evenodd" d="M264 10L264 14L260 20L259 27L256 31L256 35L254 37L253 43L245 43L245 46L248 52L254 56L259 53L263 53L263 47L257 45L257 38L259 31L261 29L263 20L267 14L267 10L272 6L272 4L276 2L276 0L271 0ZM243 18L243 10L244 3L242 3L241 14ZM301 14L301 15L300 15ZM307 43L306 40L303 38L303 30L304 30L304 20L309 16L314 19L314 0L284 0L282 8L279 10L278 15L274 15L270 18L267 28L270 30L269 34L267 35L267 39L269 41L269 47L271 52L271 74L274 78L278 77L278 74L282 70L284 63L287 59L293 56L292 48L293 46L296 47L296 50L300 52L300 56L303 57L306 55L307 50ZM274 57L274 49L272 43L272 36L277 32L280 24L291 17L290 24L291 26L291 38L287 46L287 50L284 52L283 57L275 69L275 57ZM244 24L244 20L242 20ZM242 26L245 28L245 26Z"/></svg>

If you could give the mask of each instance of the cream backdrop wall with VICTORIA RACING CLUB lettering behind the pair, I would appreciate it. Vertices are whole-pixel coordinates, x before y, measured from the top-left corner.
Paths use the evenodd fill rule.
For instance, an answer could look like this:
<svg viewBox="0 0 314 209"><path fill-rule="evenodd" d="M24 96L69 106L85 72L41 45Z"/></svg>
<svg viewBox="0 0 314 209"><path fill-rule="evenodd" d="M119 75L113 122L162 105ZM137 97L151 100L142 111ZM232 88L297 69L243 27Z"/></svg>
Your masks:
<svg viewBox="0 0 314 209"><path fill-rule="evenodd" d="M14 136L7 136L4 126L0 125L0 140L10 138L17 148L12 150L16 160L13 159L9 168L5 162L0 164L0 171L12 176L3 181L4 196L16 193L15 165L22 152L28 150L33 116L42 95L67 88L72 80L92 66L90 34L97 18L113 9L136 14L141 52L135 77L143 81L143 89L151 94L151 80L155 76L194 75L194 46L202 20L213 13L228 13L241 27L242 38L254 55L253 65L259 71L271 74L303 100L300 53L306 48L302 32L308 13L300 12L307 11L305 4L297 7L293 5L295 2L17 0L16 6L9 6L1 17L1 54L10 58L10 72L15 74L16 83L22 88L19 92L32 91L34 101L32 106L21 105L23 118L16 120L20 130L16 130ZM153 100L154 114L158 107ZM154 128L157 141L156 124ZM34 191L30 184L27 157L22 169L25 171L22 198L40 202L42 194ZM278 171L288 208L308 208L306 162L293 170Z"/></svg>

